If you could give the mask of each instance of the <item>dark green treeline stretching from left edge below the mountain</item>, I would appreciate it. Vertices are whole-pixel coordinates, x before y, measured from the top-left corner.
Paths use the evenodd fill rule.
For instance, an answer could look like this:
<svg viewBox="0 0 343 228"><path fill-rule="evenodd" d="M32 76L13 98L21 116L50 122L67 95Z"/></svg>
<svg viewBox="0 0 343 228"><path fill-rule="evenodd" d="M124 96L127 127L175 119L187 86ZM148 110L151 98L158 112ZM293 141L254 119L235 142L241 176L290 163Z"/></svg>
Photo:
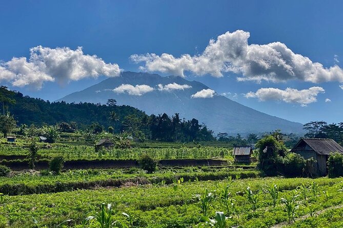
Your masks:
<svg viewBox="0 0 343 228"><path fill-rule="evenodd" d="M49 102L30 98L0 87L0 102L4 113L10 113L19 125L36 127L56 125L60 130L77 130L100 133L128 132L137 139L190 142L215 140L213 131L198 120L180 119L178 113L169 117L146 115L145 112L127 105L116 105L114 99L107 104ZM61 125L61 123L63 123ZM67 124L66 124L67 123Z"/></svg>

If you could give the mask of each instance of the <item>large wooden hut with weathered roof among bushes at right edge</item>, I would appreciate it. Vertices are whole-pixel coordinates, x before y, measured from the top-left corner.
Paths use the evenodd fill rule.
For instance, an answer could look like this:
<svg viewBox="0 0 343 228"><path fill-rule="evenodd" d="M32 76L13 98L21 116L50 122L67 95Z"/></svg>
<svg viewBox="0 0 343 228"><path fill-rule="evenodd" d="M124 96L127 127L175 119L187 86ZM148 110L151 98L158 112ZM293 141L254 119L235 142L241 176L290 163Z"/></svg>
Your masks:
<svg viewBox="0 0 343 228"><path fill-rule="evenodd" d="M313 173L326 176L329 155L334 152L343 154L343 147L332 139L301 139L290 152L300 154L305 159L313 157Z"/></svg>

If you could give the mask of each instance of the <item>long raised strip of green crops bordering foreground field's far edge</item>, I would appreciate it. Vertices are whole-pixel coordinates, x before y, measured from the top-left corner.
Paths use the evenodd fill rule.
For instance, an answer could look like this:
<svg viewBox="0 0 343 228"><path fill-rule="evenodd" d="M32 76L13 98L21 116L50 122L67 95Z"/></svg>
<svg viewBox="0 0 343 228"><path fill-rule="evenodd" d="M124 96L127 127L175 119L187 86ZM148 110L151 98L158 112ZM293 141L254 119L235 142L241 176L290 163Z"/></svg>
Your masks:
<svg viewBox="0 0 343 228"><path fill-rule="evenodd" d="M176 170L161 171L160 173L147 174L140 173L123 173L117 171L107 172L86 170L75 170L62 173L61 175L22 175L14 177L0 178L0 192L7 195L25 195L64 192L77 189L92 189L95 187L120 187L126 183L134 184L157 184L165 180L166 184L171 184L173 179L183 177L188 180L220 180L228 176L240 176L240 178L255 178L260 176L256 170L232 170L218 169L211 171L202 170Z"/></svg>

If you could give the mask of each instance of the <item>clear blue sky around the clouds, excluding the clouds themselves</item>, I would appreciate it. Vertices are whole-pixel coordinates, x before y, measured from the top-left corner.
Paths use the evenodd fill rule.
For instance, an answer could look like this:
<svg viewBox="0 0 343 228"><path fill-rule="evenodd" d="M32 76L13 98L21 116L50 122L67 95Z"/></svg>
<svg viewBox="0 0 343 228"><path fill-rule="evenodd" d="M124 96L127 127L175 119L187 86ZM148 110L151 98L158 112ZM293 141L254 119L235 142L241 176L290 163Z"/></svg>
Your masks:
<svg viewBox="0 0 343 228"><path fill-rule="evenodd" d="M139 71L138 67L144 66L149 71L147 62L136 63L130 56L146 53L157 56L168 53L175 58L183 54L201 55L210 39L217 40L226 32L243 30L250 33L249 44L279 41L293 53L321 63L324 69L334 65L343 67L342 1L1 1L1 6L0 60L3 65L13 57L29 58L30 48L42 45L71 50L83 47L85 55L97 55L106 64L117 64L122 70ZM112 65L108 74L116 70L116 65ZM158 69L153 72L171 74ZM218 78L208 72L198 76L187 69L184 75L188 80L205 83L218 94L226 93L241 104L273 116L301 123L343 121L343 89L339 87L343 82L338 79L237 81L237 77L248 75L241 71L223 71ZM49 75L42 77L47 81L38 90L37 86L20 83L16 85L21 87L13 86L6 78L0 77L0 82L29 96L53 101L106 78L85 76L77 81L52 82ZM306 78L306 75L299 74L299 77ZM261 91L263 98L256 93L260 88L286 91L287 87L301 90L314 86L321 87L325 93L317 90L314 95L317 101L306 106L296 99L286 102L271 99L267 96L270 94L263 94L266 91ZM249 92L255 97L246 98ZM325 102L326 99L331 102Z"/></svg>

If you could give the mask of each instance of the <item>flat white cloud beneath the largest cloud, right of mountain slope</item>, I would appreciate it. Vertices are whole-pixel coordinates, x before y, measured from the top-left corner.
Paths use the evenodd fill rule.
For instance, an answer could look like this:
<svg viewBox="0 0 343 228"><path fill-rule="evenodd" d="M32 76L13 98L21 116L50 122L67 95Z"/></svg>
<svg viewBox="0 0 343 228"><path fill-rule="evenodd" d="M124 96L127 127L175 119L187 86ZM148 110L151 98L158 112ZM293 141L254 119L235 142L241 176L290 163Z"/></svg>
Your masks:
<svg viewBox="0 0 343 228"><path fill-rule="evenodd" d="M259 101L276 100L284 101L286 103L298 103L301 106L306 106L316 102L319 93L325 93L324 88L317 86L302 90L297 90L295 88L286 88L286 90L278 88L260 88L255 93L247 93L245 97L257 98Z"/></svg>

